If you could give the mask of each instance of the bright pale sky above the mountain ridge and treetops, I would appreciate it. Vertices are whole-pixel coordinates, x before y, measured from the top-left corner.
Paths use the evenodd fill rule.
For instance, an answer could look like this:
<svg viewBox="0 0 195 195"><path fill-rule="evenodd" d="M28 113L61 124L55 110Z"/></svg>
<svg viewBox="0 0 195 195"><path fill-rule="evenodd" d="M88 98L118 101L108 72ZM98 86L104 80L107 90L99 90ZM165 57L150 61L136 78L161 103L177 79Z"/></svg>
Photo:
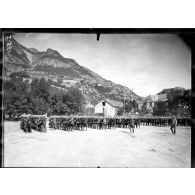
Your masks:
<svg viewBox="0 0 195 195"><path fill-rule="evenodd" d="M51 48L140 96L191 88L191 51L171 34L15 34L22 45Z"/></svg>

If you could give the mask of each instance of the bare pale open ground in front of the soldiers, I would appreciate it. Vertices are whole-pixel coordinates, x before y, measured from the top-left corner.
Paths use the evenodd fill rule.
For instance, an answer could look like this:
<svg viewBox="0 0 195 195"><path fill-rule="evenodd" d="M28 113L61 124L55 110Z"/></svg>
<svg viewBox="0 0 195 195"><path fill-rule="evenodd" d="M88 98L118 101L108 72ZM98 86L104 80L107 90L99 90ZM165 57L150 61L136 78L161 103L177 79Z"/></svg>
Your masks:
<svg viewBox="0 0 195 195"><path fill-rule="evenodd" d="M24 133L4 122L5 167L190 167L191 127Z"/></svg>

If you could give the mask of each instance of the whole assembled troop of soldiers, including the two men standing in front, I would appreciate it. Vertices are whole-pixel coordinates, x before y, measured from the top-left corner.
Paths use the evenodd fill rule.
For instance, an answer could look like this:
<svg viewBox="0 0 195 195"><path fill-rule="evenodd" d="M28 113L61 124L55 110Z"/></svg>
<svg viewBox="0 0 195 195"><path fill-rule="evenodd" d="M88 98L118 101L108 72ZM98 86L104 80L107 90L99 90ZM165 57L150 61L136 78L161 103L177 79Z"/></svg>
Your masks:
<svg viewBox="0 0 195 195"><path fill-rule="evenodd" d="M21 116L21 129L24 132L32 132L32 129L46 132L46 115L23 115ZM111 130L116 128L128 128L134 133L135 128L144 126L170 126L173 134L176 126L190 126L190 118L176 117L101 117L101 116L51 116L48 127L64 131L87 131L88 128L97 130Z"/></svg>

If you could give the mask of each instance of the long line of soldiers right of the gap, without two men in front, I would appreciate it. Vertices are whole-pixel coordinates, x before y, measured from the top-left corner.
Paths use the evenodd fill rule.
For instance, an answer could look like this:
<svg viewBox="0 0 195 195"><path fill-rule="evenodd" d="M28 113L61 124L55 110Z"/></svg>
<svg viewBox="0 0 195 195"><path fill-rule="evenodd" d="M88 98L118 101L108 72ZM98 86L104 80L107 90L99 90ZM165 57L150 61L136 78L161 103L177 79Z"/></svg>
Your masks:
<svg viewBox="0 0 195 195"><path fill-rule="evenodd" d="M171 117L98 117L98 116L56 116L50 118L50 127L63 130L87 130L87 128L106 130L116 128L140 128L140 125L165 127L171 125ZM178 119L178 125L189 125L190 119Z"/></svg>

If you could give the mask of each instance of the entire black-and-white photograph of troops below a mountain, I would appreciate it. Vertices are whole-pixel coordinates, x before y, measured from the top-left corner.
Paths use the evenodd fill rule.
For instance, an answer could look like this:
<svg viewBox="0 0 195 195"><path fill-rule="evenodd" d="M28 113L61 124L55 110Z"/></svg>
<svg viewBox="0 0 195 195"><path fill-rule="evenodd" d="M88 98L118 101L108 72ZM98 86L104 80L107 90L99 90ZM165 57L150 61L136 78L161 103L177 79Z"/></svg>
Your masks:
<svg viewBox="0 0 195 195"><path fill-rule="evenodd" d="M191 167L187 36L2 36L3 167Z"/></svg>

